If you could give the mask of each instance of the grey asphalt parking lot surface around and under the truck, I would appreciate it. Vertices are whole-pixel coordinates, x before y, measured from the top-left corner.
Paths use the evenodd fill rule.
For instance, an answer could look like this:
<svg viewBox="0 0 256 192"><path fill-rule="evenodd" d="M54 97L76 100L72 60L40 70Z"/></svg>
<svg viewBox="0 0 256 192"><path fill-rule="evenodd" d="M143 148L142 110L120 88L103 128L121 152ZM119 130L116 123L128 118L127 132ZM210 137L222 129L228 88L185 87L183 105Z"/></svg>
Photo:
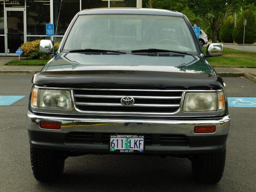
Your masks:
<svg viewBox="0 0 256 192"><path fill-rule="evenodd" d="M27 191L255 191L255 107L230 107L231 129L222 180L215 185L193 180L185 158L131 155L68 157L57 182L34 179L26 130L32 76L0 76L0 95L24 96L0 106L0 190ZM255 98L256 83L223 78L229 98ZM254 100L252 100L253 102Z"/></svg>

